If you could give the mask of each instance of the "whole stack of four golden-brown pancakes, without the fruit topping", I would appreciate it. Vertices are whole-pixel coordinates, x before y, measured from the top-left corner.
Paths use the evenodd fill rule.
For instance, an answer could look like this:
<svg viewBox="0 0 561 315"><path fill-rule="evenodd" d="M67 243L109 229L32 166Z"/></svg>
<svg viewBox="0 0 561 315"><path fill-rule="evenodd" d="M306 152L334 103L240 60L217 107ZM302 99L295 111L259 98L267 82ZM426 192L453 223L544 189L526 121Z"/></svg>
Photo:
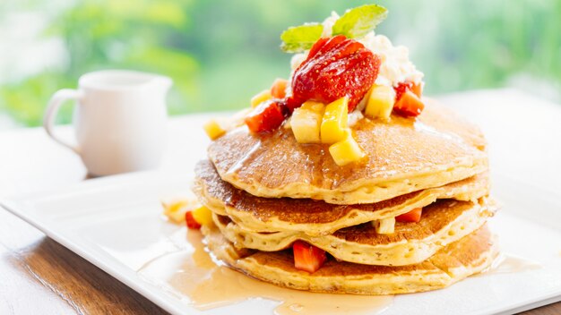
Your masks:
<svg viewBox="0 0 561 315"><path fill-rule="evenodd" d="M352 129L367 158L347 166L289 128L240 126L214 140L194 191L212 211L203 233L216 257L275 285L350 294L433 290L487 268L495 207L479 129L431 100L417 119L361 119ZM420 207L419 222L376 233L376 221ZM329 253L322 268L294 267L297 240Z"/></svg>

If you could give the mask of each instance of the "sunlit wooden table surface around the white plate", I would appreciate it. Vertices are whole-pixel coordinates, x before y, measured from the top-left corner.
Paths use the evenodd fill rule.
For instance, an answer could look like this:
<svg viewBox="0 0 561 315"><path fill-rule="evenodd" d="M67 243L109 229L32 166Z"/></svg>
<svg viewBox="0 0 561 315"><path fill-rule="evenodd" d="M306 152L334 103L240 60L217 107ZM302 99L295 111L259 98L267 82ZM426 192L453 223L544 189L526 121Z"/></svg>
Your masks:
<svg viewBox="0 0 561 315"><path fill-rule="evenodd" d="M479 123L490 143L492 170L561 192L561 106L513 89L442 97ZM194 152L201 119L170 119L163 172L191 172L181 163ZM69 127L60 132L71 137ZM539 157L539 163L536 158ZM540 172L539 170L543 170ZM0 133L0 198L86 180L73 152L49 140L39 128ZM561 224L561 223L560 223ZM39 230L0 209L0 314L159 314L142 295L108 276ZM526 314L561 314L561 302Z"/></svg>

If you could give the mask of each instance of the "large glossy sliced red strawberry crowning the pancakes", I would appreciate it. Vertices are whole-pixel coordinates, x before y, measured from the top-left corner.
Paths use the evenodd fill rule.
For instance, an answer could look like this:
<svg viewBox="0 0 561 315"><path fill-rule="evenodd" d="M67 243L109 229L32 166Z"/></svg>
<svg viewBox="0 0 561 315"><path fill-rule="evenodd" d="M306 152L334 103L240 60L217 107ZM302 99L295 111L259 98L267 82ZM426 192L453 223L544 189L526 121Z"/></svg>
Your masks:
<svg viewBox="0 0 561 315"><path fill-rule="evenodd" d="M293 98L324 104L349 97L349 111L374 84L380 59L354 39L338 35L320 38L292 77Z"/></svg>

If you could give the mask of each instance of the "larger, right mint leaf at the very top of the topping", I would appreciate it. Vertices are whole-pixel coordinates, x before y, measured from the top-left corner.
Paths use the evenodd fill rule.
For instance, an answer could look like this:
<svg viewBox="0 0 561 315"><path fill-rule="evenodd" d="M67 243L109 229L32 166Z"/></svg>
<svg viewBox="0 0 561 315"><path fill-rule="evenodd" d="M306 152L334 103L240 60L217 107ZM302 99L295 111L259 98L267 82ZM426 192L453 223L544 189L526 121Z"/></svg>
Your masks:
<svg viewBox="0 0 561 315"><path fill-rule="evenodd" d="M344 13L333 25L332 34L361 38L384 21L388 11L377 4L366 4Z"/></svg>

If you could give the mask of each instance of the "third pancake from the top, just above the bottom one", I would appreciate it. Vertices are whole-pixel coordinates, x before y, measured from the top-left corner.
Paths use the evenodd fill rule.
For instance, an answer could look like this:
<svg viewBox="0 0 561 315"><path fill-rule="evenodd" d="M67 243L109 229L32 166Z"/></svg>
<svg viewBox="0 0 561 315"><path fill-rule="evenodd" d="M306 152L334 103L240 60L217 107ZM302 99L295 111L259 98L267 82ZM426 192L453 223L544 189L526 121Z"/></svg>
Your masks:
<svg viewBox="0 0 561 315"><path fill-rule="evenodd" d="M438 200L423 209L419 223L397 222L393 234L377 234L371 223L318 236L294 231L255 233L241 228L229 217L216 215L214 223L224 237L238 248L281 251L302 240L329 252L338 260L403 266L426 260L445 245L477 230L493 215L493 211L485 199L477 203Z"/></svg>

